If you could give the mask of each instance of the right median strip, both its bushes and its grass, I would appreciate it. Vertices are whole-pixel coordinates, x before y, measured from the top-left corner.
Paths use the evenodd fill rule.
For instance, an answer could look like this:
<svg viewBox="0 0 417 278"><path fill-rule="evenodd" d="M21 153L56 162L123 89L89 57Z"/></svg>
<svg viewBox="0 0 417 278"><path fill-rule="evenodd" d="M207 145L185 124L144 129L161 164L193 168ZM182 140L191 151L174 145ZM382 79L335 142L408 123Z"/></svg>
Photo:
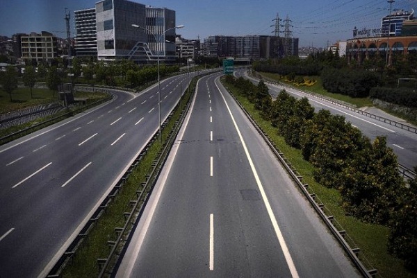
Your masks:
<svg viewBox="0 0 417 278"><path fill-rule="evenodd" d="M297 168L381 277L417 277L417 180L405 182L384 137L370 141L343 116L314 112L261 80L223 82Z"/></svg>

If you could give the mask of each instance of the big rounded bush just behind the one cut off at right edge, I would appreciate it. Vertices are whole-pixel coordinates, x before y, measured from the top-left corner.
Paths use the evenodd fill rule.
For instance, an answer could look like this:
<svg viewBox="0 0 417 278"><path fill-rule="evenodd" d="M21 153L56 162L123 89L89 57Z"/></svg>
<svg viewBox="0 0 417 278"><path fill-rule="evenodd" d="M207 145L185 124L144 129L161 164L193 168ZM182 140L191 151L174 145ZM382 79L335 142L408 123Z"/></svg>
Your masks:
<svg viewBox="0 0 417 278"><path fill-rule="evenodd" d="M368 142L343 171L343 207L353 216L386 225L397 205L396 192L404 187L397 157L386 146L386 137Z"/></svg>

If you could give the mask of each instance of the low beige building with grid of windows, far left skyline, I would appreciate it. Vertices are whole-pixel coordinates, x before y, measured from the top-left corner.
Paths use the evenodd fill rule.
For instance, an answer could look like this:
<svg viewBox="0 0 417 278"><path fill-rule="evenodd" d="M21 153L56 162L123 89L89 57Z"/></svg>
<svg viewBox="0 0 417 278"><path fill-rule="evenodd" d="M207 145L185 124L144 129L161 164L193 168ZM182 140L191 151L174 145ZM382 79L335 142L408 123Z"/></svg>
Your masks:
<svg viewBox="0 0 417 278"><path fill-rule="evenodd" d="M49 32L20 35L23 60L46 60L50 62L58 56L56 37Z"/></svg>

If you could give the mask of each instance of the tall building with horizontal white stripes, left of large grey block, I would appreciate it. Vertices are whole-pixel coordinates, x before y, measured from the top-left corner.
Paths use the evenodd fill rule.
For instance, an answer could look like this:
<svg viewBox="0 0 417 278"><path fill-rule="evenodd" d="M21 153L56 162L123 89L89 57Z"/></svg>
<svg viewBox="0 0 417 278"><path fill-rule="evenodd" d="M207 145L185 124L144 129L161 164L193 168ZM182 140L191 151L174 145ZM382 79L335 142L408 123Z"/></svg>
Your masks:
<svg viewBox="0 0 417 278"><path fill-rule="evenodd" d="M97 28L95 8L75 10L76 56L97 57Z"/></svg>

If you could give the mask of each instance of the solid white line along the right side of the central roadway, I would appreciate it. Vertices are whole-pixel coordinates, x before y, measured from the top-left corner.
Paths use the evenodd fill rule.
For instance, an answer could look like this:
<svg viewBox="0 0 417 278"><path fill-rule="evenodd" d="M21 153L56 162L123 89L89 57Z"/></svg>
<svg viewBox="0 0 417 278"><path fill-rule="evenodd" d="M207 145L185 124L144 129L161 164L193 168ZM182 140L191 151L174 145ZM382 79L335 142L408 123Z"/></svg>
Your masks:
<svg viewBox="0 0 417 278"><path fill-rule="evenodd" d="M219 78L216 78L216 79L219 79ZM252 169L252 173L253 173L253 175L255 177L255 180L256 180L256 184L258 184L258 188L259 188L259 191L261 192L261 196L262 196L263 202L265 203L266 210L268 211L268 215L269 215L270 220L272 222L272 226L275 229L275 234L277 234L277 238L278 238L279 244L281 245L282 252L284 253L284 257L285 257L286 263L288 265L288 268L290 269L291 276L294 277L294 278L297 278L299 276L298 276L297 269L295 268L293 258L291 257L291 254L288 250L288 247L287 247L286 242L284 240L284 236L282 236L281 229L279 229L277 218L275 218L274 212L272 211L272 207L270 205L268 197L266 196L265 190L263 189L263 185L261 183L261 180L259 179L259 175L258 175L258 172L256 171L255 166L254 166L254 162L252 161L252 158L250 157L249 150L247 150L245 140L243 139L243 136L240 133L240 130L238 128L238 124L236 123L236 121L234 119L234 116L231 113L231 110L229 108L229 105L227 104L226 98L224 98L224 95L222 94L222 91L220 90L220 88L218 87L216 82L215 82L215 86L218 88L218 90L220 92L220 95L223 98L224 104L226 105L227 110L229 111L229 114L231 116L231 120L233 121L234 126L236 128L236 132L238 132L240 141L242 142L242 146L243 146L243 149L245 150L247 160L249 161L250 168Z"/></svg>

